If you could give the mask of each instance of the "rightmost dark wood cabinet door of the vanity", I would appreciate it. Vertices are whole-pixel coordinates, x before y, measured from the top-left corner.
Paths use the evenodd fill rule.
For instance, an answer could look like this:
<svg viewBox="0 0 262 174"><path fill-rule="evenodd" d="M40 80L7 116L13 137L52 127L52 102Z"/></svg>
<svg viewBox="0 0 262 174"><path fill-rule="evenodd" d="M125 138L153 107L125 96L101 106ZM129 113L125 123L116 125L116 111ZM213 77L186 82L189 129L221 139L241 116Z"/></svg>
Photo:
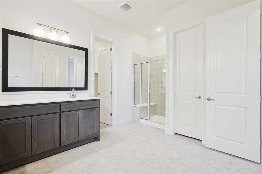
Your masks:
<svg viewBox="0 0 262 174"><path fill-rule="evenodd" d="M99 108L83 110L82 139L95 136L99 132Z"/></svg>

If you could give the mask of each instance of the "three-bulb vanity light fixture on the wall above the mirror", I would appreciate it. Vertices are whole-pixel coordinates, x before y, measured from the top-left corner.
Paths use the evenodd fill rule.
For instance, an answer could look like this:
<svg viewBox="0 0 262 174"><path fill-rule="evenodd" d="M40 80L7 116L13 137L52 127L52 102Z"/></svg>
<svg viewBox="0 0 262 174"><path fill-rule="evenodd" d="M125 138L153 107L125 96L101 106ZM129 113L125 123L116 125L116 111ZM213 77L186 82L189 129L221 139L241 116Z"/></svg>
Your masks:
<svg viewBox="0 0 262 174"><path fill-rule="evenodd" d="M54 28L54 27L51 27L51 26L47 26L47 25L44 25L44 24L41 24L41 23L37 23L37 31L36 31L36 34L37 34L38 36L42 36L43 33L44 33L42 26L46 26L46 27L50 28L49 31L50 31L50 33L51 33L51 35L50 35L51 39L57 40L57 38L58 38L58 36L57 36L57 30L59 30L59 31L65 32L64 37L62 37L62 41L65 42L65 43L68 43L68 42L70 41L70 39L69 39L69 32L68 32L68 31L60 30L60 29L58 29L58 28Z"/></svg>

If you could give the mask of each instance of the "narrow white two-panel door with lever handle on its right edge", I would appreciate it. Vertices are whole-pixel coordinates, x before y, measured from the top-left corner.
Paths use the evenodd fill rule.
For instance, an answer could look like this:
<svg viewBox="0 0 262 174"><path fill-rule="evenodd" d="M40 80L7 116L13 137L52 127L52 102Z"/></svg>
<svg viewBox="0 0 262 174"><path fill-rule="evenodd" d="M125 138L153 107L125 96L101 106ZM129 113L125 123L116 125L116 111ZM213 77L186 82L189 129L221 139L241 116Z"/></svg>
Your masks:
<svg viewBox="0 0 262 174"><path fill-rule="evenodd" d="M176 33L174 43L175 133L202 140L203 26Z"/></svg>

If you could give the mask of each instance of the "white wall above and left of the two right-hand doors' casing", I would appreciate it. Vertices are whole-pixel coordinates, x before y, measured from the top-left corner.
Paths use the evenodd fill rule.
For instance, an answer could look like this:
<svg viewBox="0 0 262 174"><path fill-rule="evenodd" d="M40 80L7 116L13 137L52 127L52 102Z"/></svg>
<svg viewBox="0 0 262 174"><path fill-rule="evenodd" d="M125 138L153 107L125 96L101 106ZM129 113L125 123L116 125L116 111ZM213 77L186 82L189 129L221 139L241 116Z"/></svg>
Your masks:
<svg viewBox="0 0 262 174"><path fill-rule="evenodd" d="M183 24L195 21L197 19L212 16L218 14L220 12L232 9L234 7L241 6L245 3L251 1L187 1L175 8L172 8L166 12L166 62L168 65L169 61L169 30ZM166 66L166 79L169 79L168 66ZM171 123L169 123L170 117L174 117L173 115L169 115L169 80L166 81L166 129L169 129ZM170 132L172 134L172 132Z"/></svg>

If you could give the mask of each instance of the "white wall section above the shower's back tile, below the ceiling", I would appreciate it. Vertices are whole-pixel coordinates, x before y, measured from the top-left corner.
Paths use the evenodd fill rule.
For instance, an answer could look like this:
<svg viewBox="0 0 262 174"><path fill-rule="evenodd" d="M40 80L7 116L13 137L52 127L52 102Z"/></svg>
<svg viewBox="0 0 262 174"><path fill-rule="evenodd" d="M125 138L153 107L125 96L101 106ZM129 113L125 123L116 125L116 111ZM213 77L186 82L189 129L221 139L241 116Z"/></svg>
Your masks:
<svg viewBox="0 0 262 174"><path fill-rule="evenodd" d="M165 34L149 39L149 57L165 54Z"/></svg>

